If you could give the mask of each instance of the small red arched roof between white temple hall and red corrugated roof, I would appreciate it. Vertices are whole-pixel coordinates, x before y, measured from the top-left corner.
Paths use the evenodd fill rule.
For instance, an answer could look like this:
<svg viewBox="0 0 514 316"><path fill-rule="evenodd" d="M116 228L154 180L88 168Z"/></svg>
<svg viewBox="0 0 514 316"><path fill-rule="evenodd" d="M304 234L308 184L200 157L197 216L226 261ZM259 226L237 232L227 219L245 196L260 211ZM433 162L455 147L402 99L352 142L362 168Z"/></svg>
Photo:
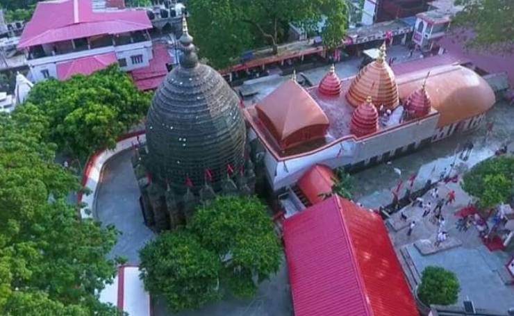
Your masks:
<svg viewBox="0 0 514 316"><path fill-rule="evenodd" d="M298 180L298 188L311 204L323 201L324 193L332 192L335 174L326 165L313 165Z"/></svg>

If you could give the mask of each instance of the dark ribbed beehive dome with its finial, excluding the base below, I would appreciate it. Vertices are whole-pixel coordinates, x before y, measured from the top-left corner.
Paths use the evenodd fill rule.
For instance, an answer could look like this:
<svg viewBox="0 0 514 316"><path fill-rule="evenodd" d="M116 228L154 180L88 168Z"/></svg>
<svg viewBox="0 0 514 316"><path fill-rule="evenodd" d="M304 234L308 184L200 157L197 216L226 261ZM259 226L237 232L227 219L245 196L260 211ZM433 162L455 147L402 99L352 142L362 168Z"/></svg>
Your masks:
<svg viewBox="0 0 514 316"><path fill-rule="evenodd" d="M146 131L152 181L183 192L205 181L215 190L244 163L246 130L238 96L213 68L198 63L185 19L183 56L154 95Z"/></svg>

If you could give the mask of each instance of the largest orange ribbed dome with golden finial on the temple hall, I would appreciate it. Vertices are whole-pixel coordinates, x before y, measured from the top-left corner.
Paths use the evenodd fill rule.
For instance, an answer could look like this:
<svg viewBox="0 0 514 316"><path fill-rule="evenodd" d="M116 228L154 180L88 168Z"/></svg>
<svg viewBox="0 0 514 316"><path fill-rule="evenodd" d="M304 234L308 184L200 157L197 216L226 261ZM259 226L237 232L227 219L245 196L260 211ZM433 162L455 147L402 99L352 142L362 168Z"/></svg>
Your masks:
<svg viewBox="0 0 514 316"><path fill-rule="evenodd" d="M351 106L363 103L367 96L373 98L376 106L396 108L398 106L398 87L395 74L385 61L386 45L380 47L379 57L360 70L351 82L346 99Z"/></svg>

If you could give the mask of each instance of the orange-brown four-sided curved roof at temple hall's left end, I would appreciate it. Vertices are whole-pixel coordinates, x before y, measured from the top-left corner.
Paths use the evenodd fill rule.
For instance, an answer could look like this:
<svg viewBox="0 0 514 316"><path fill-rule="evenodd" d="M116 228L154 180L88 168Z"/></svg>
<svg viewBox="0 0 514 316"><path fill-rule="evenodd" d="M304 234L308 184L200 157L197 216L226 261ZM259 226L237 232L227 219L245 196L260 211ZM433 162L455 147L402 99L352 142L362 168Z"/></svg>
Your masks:
<svg viewBox="0 0 514 316"><path fill-rule="evenodd" d="M295 81L282 83L256 105L257 113L264 115L265 124L277 140L285 140L293 133L309 126L329 126L320 106L313 97Z"/></svg>

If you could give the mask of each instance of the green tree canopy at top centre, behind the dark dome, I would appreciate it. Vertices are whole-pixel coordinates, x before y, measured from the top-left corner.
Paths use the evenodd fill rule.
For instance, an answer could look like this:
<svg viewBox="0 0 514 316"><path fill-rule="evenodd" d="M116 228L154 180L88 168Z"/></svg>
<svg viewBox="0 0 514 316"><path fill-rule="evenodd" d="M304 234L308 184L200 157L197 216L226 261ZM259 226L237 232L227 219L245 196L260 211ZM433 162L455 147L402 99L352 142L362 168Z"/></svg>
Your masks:
<svg viewBox="0 0 514 316"><path fill-rule="evenodd" d="M347 2L341 0L196 0L188 3L192 34L201 56L213 67L226 67L244 51L283 42L289 23L317 32L327 47L341 43L347 27Z"/></svg>

